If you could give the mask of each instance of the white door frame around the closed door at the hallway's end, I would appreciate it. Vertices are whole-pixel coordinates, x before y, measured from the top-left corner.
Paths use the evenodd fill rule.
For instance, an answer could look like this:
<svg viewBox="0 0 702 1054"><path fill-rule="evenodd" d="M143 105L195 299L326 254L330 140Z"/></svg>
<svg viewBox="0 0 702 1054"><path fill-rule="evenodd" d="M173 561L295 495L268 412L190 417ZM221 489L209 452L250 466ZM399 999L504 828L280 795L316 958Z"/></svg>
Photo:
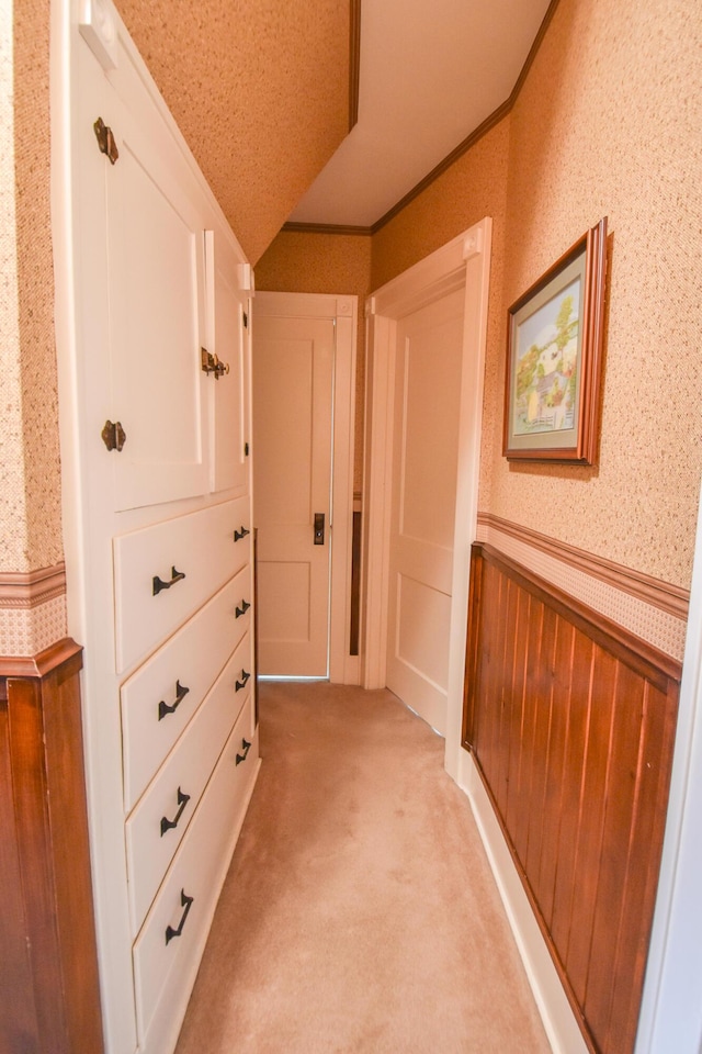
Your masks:
<svg viewBox="0 0 702 1054"><path fill-rule="evenodd" d="M359 298L333 293L256 293L251 357L256 359L256 315L319 318L335 323L331 468L331 562L329 570L329 681L358 684L359 659L349 654L351 638L351 553L353 540L353 438ZM253 365L254 368L254 365ZM256 450L252 450L256 476ZM253 508L256 520L256 508Z"/></svg>

